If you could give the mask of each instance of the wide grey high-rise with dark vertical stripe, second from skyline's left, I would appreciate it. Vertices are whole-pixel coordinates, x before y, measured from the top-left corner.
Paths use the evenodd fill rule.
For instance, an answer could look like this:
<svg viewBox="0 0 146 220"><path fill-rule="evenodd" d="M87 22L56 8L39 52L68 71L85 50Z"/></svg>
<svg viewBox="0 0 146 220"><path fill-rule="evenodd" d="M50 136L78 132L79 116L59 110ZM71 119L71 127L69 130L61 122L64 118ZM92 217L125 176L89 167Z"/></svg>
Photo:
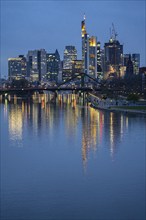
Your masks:
<svg viewBox="0 0 146 220"><path fill-rule="evenodd" d="M32 81L43 81L47 72L45 49L31 50L27 54L27 76Z"/></svg>

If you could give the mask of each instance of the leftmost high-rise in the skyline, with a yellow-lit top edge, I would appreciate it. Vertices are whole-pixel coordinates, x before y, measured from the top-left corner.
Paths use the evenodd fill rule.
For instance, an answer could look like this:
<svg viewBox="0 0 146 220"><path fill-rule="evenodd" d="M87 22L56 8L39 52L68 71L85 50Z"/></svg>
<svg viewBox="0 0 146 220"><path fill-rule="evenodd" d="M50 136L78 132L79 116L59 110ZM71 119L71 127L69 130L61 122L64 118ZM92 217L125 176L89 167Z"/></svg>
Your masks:
<svg viewBox="0 0 146 220"><path fill-rule="evenodd" d="M26 77L26 58L23 55L8 59L8 75L10 80Z"/></svg>

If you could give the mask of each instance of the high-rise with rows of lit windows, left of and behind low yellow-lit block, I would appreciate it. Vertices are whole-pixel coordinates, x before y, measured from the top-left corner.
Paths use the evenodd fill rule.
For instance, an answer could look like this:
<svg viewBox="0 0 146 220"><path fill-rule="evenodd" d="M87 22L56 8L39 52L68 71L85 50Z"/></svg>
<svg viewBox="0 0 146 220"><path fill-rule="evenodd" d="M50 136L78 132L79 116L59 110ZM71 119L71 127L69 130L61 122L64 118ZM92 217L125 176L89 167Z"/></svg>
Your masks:
<svg viewBox="0 0 146 220"><path fill-rule="evenodd" d="M77 50L75 46L66 46L64 50L63 69L72 69L73 60L77 60Z"/></svg>

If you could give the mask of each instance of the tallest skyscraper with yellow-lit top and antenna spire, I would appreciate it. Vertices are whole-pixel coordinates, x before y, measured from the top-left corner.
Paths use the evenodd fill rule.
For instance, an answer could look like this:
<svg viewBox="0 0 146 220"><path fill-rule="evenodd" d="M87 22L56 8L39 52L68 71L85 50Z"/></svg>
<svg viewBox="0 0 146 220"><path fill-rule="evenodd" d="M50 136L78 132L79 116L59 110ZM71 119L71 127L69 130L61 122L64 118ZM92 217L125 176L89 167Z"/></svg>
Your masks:
<svg viewBox="0 0 146 220"><path fill-rule="evenodd" d="M89 74L89 35L86 32L85 15L81 22L83 72Z"/></svg>

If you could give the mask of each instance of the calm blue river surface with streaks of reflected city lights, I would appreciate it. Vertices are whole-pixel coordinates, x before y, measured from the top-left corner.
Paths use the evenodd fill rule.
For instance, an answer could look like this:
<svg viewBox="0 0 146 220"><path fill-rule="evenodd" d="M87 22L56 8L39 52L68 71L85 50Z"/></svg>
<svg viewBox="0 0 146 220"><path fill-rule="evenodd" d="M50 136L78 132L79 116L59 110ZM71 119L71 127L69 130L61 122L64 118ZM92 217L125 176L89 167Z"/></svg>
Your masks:
<svg viewBox="0 0 146 220"><path fill-rule="evenodd" d="M0 104L1 220L144 220L146 117L49 99Z"/></svg>

